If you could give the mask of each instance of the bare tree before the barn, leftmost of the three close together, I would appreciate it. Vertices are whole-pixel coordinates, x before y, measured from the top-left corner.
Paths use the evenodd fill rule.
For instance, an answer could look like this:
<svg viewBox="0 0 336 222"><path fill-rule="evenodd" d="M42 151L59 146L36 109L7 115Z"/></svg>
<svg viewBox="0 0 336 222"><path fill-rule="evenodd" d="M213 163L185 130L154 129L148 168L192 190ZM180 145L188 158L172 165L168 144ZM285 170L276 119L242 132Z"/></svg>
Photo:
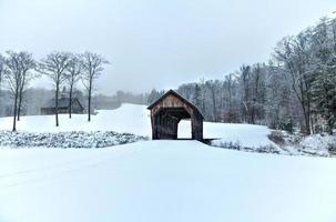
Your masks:
<svg viewBox="0 0 336 222"><path fill-rule="evenodd" d="M59 92L61 83L67 79L65 71L69 67L70 53L51 52L39 64L39 72L52 80L55 89L55 125L59 127Z"/></svg>

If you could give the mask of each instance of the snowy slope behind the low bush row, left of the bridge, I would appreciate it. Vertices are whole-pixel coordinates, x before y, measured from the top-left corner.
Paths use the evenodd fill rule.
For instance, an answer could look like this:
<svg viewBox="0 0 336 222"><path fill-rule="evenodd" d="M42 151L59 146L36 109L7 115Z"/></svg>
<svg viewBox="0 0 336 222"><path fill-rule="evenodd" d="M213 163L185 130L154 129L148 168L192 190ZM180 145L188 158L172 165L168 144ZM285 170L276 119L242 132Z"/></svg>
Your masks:
<svg viewBox="0 0 336 222"><path fill-rule="evenodd" d="M116 110L99 110L88 122L86 114L60 114L60 127L54 127L54 115L21 117L18 130L28 132L64 132L64 131L115 131L138 135L151 134L150 112L145 105L123 104ZM11 130L12 118L0 118L0 130Z"/></svg>

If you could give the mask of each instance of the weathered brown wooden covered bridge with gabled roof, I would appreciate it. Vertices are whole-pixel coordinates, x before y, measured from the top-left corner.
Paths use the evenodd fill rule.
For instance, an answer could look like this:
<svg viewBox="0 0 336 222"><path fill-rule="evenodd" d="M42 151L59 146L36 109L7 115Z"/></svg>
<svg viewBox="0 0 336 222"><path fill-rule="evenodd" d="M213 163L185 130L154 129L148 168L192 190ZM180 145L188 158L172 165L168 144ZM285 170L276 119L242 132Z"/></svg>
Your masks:
<svg viewBox="0 0 336 222"><path fill-rule="evenodd" d="M183 119L191 119L192 139L203 140L202 113L174 90L167 91L147 109L151 110L153 140L176 140L177 125Z"/></svg>

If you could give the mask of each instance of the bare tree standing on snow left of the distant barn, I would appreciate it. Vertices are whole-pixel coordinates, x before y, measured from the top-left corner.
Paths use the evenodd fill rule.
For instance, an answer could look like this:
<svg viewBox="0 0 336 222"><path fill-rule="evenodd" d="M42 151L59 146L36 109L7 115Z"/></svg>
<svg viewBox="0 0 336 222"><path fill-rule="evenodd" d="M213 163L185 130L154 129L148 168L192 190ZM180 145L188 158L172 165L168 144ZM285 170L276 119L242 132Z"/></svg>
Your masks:
<svg viewBox="0 0 336 222"><path fill-rule="evenodd" d="M32 56L28 52L8 51L4 62L6 62L4 78L7 80L8 88L14 99L12 130L16 131L18 107L21 97L20 93L23 91L28 82L27 79L29 78L28 77L29 70L34 68L34 61L32 59Z"/></svg>

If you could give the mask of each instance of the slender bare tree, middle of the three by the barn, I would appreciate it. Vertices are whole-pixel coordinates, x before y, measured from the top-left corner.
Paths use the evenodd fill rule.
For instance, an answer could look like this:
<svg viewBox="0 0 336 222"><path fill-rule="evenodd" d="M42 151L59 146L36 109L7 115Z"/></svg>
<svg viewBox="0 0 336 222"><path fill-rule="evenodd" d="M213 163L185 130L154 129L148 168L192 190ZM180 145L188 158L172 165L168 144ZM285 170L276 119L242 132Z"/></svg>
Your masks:
<svg viewBox="0 0 336 222"><path fill-rule="evenodd" d="M69 84L69 118L72 114L72 93L73 88L81 78L82 65L80 63L80 58L77 54L71 54L69 60L69 65L67 68L67 82Z"/></svg>

